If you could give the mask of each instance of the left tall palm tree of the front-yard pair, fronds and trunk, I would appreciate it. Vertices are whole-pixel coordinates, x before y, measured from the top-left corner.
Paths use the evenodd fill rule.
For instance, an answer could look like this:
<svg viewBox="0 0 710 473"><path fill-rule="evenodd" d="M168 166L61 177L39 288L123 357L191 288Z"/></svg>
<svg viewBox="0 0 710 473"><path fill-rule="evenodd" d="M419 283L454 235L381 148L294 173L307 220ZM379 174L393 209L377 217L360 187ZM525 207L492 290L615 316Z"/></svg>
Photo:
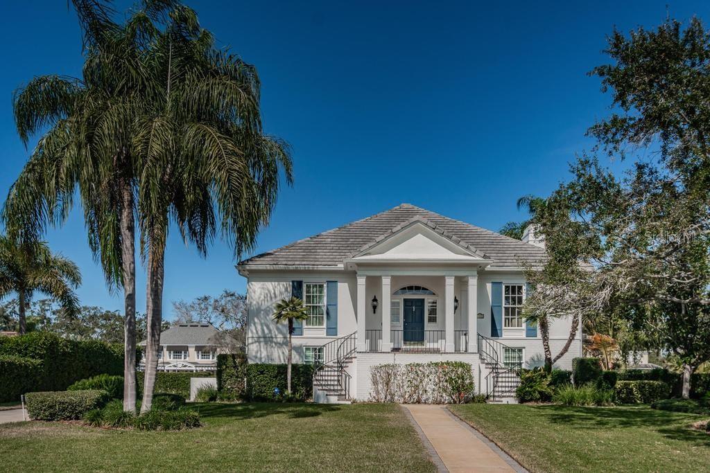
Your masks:
<svg viewBox="0 0 710 473"><path fill-rule="evenodd" d="M109 287L124 290L124 409L136 410L136 175L132 124L149 82L141 61L151 21L169 0L143 1L126 25L111 20L100 0L72 0L82 26L86 61L81 78L36 77L14 97L18 133L49 127L9 192L3 218L9 233L35 240L62 224L78 190L89 246Z"/></svg>

